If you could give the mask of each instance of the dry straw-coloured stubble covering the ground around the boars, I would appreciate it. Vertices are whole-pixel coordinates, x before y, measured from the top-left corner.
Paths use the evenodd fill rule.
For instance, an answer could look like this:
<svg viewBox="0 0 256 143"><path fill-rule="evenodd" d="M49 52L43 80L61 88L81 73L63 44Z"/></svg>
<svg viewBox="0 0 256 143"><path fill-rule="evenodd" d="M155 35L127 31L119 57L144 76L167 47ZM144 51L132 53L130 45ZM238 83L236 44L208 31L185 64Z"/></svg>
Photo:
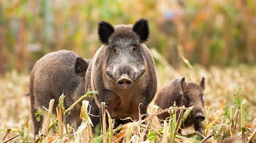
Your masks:
<svg viewBox="0 0 256 143"><path fill-rule="evenodd" d="M158 60L156 58L156 62ZM161 63L164 63L164 61ZM208 114L205 121L207 128L205 128L203 136L193 132L193 129L190 130L190 128L182 130L182 135L176 134L174 130L176 130L177 124L173 118L170 120L170 124L166 122L161 126L156 116L151 115L146 118L146 121L148 121L146 124L142 124L143 120L139 120L138 122L126 124L122 128L106 129L104 130L104 138L103 136L95 138L92 136L86 110L83 110L84 122L75 136L71 132L66 134L66 128L64 128L64 131L61 131L63 132L61 133L61 136L63 135L62 138L50 132L43 139L43 142L51 142L53 140L58 142L89 142L88 140L94 140L94 142L108 142L108 140L113 142L142 142L145 140L146 132L148 132L146 138L148 141L146 142L170 142L171 140L174 140L174 142L240 142L239 140L241 140L243 133L245 140L255 138L256 100L254 97L256 96L256 67L239 65L225 69L219 67L206 69L196 65L193 66L193 69L190 69L184 65L174 70L172 67L161 63L157 66L158 89L174 77L185 76L187 80L197 81L201 79L201 76L207 78L205 101L206 108L209 110L207 110ZM28 84L29 76L27 74L17 74L13 71L1 76L0 129L5 129L0 132L1 140L7 134L6 129L11 129L4 140L5 142L13 137L15 138L10 142L15 140L17 142L33 142L29 96L25 96L28 92ZM239 90L240 87L243 92ZM238 96L234 96L234 94L238 94ZM242 114L247 114L247 118L241 117L240 113L237 116L237 110L241 110L240 107L243 106L241 102L235 100L239 96L242 98L241 102L247 104L247 110L242 110L241 112ZM229 106L234 107L225 108L227 102L229 102ZM86 108L86 102L84 102L84 108ZM157 114L158 111L151 104L148 112ZM172 110L172 112L174 111ZM224 116L223 113L227 113L230 116L227 114ZM178 118L178 115L176 118ZM243 124L241 125L241 120L243 119L246 119L245 128L243 128ZM108 122L112 123L113 120L108 120ZM235 122L237 122L236 125ZM117 132L117 130L119 131Z"/></svg>

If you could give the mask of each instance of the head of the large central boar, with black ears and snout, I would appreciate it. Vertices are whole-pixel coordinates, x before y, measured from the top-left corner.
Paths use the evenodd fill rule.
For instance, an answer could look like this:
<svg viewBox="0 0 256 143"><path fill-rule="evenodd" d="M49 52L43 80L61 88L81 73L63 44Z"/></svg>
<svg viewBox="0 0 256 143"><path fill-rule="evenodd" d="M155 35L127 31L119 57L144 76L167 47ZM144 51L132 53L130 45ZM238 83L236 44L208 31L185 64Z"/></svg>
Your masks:
<svg viewBox="0 0 256 143"><path fill-rule="evenodd" d="M98 25L100 41L106 48L105 73L121 89L132 88L145 73L144 42L149 37L148 21L117 25L102 21Z"/></svg>

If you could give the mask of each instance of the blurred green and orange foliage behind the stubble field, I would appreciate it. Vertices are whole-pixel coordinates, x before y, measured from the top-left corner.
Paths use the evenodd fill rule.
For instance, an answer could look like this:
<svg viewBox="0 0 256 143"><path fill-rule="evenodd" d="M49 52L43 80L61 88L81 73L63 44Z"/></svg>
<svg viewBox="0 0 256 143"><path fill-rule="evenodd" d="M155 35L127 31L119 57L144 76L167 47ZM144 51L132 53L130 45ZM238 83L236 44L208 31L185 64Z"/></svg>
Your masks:
<svg viewBox="0 0 256 143"><path fill-rule="evenodd" d="M97 23L132 24L145 17L150 41L170 65L221 67L256 61L255 0L2 0L0 72L29 72L59 49L90 59L100 47ZM157 64L157 63L156 63Z"/></svg>

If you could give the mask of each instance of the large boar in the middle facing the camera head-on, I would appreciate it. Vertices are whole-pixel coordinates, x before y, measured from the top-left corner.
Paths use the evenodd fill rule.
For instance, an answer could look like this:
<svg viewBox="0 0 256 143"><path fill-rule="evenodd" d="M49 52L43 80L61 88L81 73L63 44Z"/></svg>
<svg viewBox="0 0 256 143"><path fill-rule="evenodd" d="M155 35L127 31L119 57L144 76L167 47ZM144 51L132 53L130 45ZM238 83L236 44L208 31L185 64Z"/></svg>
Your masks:
<svg viewBox="0 0 256 143"><path fill-rule="evenodd" d="M100 103L117 124L120 118L138 119L146 114L148 104L156 93L156 69L150 51L144 45L149 37L148 21L140 19L134 25L117 25L102 21L98 35L103 43L86 72L86 91L98 90L90 100L91 114L100 114ZM93 124L99 118L91 116Z"/></svg>

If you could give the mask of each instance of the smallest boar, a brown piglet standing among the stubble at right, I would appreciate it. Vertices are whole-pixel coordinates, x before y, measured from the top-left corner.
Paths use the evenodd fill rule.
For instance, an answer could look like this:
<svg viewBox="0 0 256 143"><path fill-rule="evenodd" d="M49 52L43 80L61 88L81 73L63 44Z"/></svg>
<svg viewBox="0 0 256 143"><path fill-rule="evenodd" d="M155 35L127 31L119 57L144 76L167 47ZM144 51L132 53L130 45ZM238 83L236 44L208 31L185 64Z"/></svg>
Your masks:
<svg viewBox="0 0 256 143"><path fill-rule="evenodd" d="M197 82L186 82L185 78L182 78L181 80L176 78L172 80L172 82L169 82L158 92L155 103L162 109L173 106L174 101L176 102L177 106L193 106L193 110L184 122L184 126L182 126L182 128L186 128L194 124L195 130L203 134L202 121L205 120L203 99L204 90L204 77L199 84L197 84ZM164 120L169 116L170 114L165 112L160 114L158 118L160 120Z"/></svg>

